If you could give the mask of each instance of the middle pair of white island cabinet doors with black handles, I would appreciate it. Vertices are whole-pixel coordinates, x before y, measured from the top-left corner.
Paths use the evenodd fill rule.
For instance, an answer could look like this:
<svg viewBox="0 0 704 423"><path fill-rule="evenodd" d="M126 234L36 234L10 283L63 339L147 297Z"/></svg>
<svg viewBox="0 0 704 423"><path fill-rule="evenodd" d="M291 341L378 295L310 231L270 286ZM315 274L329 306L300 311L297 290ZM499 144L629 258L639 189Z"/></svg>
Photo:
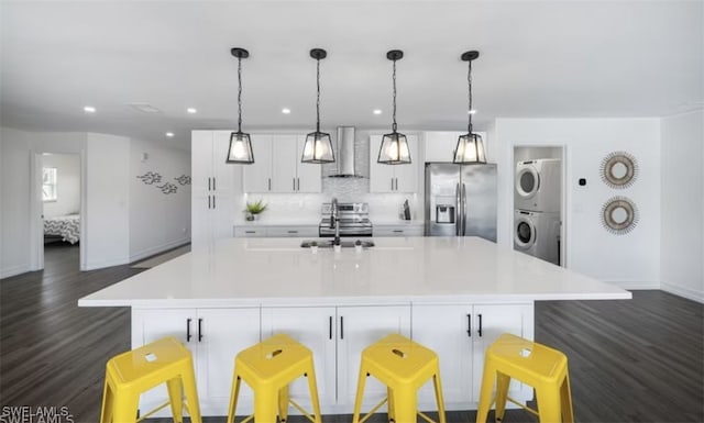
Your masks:
<svg viewBox="0 0 704 423"><path fill-rule="evenodd" d="M263 308L262 338L280 332L314 352L323 413L351 413L362 350L389 333L410 336L410 307ZM370 378L365 407L385 394L386 389ZM294 383L292 397L310 404L305 380Z"/></svg>

